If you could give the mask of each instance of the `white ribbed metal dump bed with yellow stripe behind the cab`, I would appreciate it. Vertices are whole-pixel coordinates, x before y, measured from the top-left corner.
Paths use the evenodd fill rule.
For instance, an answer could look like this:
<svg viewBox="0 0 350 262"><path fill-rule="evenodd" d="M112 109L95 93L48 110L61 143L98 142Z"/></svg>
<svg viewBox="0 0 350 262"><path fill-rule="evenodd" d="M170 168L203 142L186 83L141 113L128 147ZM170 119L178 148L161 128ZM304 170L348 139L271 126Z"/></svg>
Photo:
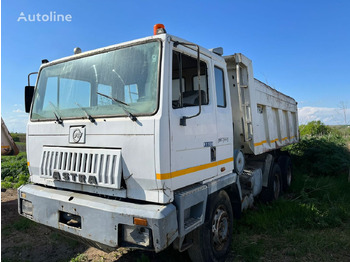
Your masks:
<svg viewBox="0 0 350 262"><path fill-rule="evenodd" d="M252 61L225 57L235 149L259 155L299 140L297 102L254 78Z"/></svg>

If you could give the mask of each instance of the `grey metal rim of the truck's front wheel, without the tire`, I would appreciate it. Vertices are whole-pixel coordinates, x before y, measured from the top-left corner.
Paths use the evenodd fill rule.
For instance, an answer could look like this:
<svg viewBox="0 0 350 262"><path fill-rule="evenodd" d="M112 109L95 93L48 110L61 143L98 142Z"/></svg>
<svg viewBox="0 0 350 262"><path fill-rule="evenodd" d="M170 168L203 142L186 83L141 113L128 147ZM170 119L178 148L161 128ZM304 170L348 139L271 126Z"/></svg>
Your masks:
<svg viewBox="0 0 350 262"><path fill-rule="evenodd" d="M229 239L229 216L224 206L219 206L215 210L213 223L212 223L212 235L213 246L215 250L223 250L225 244Z"/></svg>

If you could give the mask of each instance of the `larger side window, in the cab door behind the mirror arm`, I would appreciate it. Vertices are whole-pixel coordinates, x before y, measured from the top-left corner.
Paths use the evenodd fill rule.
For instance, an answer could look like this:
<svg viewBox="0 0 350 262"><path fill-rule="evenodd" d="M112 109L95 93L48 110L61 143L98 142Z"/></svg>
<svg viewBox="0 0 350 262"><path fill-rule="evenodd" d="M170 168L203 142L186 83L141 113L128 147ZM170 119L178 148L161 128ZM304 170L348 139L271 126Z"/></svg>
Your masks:
<svg viewBox="0 0 350 262"><path fill-rule="evenodd" d="M179 52L173 52L172 70L173 108L199 105L197 59ZM181 78L181 82L180 82ZM207 105L208 74L207 64L200 62L200 87L202 105Z"/></svg>

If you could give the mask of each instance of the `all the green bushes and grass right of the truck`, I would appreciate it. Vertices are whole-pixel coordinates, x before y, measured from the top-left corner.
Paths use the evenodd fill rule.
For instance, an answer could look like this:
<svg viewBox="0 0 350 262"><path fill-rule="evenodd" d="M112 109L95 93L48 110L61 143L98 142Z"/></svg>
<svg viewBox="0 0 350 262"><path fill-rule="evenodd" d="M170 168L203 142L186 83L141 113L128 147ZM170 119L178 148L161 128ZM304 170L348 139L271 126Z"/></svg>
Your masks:
<svg viewBox="0 0 350 262"><path fill-rule="evenodd" d="M294 161L290 190L272 205L257 204L235 224L237 261L350 258L350 153L342 133L350 131L319 121L300 131L300 142L287 147Z"/></svg>

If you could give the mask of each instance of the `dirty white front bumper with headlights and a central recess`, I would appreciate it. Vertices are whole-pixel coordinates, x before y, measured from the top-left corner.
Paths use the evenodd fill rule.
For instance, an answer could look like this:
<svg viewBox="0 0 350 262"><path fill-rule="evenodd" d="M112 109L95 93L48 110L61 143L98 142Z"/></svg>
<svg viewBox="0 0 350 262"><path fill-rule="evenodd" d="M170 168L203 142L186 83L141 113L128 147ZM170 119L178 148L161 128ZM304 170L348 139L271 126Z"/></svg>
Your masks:
<svg viewBox="0 0 350 262"><path fill-rule="evenodd" d="M130 232L130 228L138 228L134 225L134 218L147 220L145 228L150 232L150 243L146 248L159 252L178 236L176 208L173 204L135 204L38 185L25 185L18 189L18 212L35 222L92 241L98 247L142 248L142 245L127 242L132 236L124 235L125 232ZM78 226L65 223L62 216L67 214L79 219ZM123 227L128 230L123 230Z"/></svg>

